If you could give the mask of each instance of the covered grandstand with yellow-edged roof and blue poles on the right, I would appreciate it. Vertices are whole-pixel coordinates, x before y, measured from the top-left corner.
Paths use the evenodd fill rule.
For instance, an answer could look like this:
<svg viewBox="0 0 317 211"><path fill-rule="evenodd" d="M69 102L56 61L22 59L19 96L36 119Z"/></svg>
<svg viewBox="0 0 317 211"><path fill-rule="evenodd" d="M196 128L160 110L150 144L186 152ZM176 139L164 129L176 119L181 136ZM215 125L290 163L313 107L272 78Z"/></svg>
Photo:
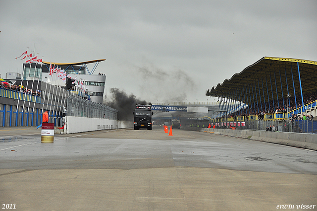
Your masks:
<svg viewBox="0 0 317 211"><path fill-rule="evenodd" d="M207 90L206 96L218 97L220 108L224 107L222 102L233 102L235 109L228 113L242 121L291 121L306 116L316 119L316 82L317 62L263 57ZM247 106L238 109L242 103Z"/></svg>

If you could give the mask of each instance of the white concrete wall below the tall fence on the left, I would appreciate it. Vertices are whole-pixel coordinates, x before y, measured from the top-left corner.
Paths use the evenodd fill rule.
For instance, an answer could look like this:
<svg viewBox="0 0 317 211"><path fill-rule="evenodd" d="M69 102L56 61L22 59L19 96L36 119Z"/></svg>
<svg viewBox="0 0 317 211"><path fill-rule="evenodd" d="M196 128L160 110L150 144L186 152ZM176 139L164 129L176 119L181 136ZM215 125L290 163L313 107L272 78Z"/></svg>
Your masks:
<svg viewBox="0 0 317 211"><path fill-rule="evenodd" d="M88 131L99 131L107 129L132 128L133 123L126 121L86 118L86 117L67 117L65 134L82 133Z"/></svg>

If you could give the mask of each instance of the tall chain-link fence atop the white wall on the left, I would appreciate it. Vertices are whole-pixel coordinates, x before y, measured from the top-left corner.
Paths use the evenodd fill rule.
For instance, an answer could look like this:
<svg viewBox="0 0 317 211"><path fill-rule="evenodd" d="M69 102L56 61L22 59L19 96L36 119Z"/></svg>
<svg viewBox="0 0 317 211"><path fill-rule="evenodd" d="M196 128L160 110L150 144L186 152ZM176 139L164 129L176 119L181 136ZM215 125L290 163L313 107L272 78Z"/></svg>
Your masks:
<svg viewBox="0 0 317 211"><path fill-rule="evenodd" d="M117 120L118 110L109 106L70 95L67 98L66 114L73 117L88 117Z"/></svg>

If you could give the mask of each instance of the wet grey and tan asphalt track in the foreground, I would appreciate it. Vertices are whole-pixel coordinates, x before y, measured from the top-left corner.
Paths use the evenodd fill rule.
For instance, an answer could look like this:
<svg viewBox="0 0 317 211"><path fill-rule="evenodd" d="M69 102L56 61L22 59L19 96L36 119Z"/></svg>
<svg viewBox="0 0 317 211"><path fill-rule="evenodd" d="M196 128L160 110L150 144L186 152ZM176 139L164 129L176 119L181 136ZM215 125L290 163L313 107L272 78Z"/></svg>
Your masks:
<svg viewBox="0 0 317 211"><path fill-rule="evenodd" d="M168 136L159 126L55 135L53 143L24 129L0 130L0 203L22 210L273 210L317 202L312 150L176 129Z"/></svg>

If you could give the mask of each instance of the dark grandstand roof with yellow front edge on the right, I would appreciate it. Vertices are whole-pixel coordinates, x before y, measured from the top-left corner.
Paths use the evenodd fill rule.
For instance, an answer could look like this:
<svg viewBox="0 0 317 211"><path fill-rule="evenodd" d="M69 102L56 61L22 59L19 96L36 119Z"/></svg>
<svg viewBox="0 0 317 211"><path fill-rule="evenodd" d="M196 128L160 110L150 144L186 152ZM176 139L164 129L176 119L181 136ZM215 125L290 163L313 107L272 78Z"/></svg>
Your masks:
<svg viewBox="0 0 317 211"><path fill-rule="evenodd" d="M275 58L275 57L263 57L253 65L242 70L240 73L234 74L230 79L225 79L221 84L212 87L206 91L206 96L214 97L227 97L241 102L246 103L243 99L242 90L246 89L246 85L249 90L253 87L255 100L256 95L258 102L260 103L260 95L263 101L263 89L264 96L267 99L267 90L269 93L269 99L272 98L271 91L273 90L274 100L276 99L276 89L279 100L282 99L282 91L284 98L287 95L288 90L291 95L294 95L292 72L294 79L294 86L296 95L301 93L298 66L300 70L300 77L302 83L303 94L317 92L317 62L300 60L300 59L289 59L289 58ZM287 77L286 77L286 76ZM276 78L276 79L275 79ZM287 78L287 84L286 84ZM263 86L262 86L263 81ZM267 81L267 86L266 86ZM272 88L271 88L271 83ZM276 86L275 86L276 81ZM282 89L281 89L282 86ZM256 88L256 89L255 89ZM267 88L267 89L266 89ZM260 94L259 94L260 89ZM236 92L237 91L237 92ZM235 93L238 95L235 96ZM251 91L252 93L252 91ZM232 95L230 95L232 94ZM275 96L274 96L275 95Z"/></svg>

